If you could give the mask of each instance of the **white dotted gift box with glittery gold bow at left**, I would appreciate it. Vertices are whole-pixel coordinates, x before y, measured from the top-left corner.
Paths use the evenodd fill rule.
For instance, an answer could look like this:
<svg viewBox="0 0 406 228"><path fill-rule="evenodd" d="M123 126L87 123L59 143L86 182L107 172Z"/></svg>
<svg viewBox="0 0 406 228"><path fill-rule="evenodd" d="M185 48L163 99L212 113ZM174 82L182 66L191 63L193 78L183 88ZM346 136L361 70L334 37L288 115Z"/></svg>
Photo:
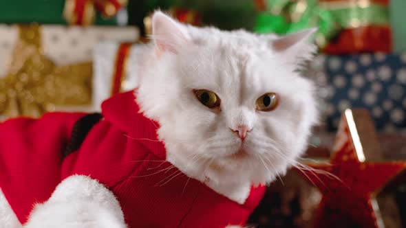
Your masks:
<svg viewBox="0 0 406 228"><path fill-rule="evenodd" d="M0 115L92 107L92 56L99 41L136 41L136 27L0 25Z"/></svg>

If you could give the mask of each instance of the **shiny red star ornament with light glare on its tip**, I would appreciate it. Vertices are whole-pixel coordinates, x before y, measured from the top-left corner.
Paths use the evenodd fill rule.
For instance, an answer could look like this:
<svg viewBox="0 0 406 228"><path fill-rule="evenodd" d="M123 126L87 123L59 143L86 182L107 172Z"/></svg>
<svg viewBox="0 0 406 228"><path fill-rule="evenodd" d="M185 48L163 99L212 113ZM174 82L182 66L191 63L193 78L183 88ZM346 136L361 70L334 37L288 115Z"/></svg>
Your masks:
<svg viewBox="0 0 406 228"><path fill-rule="evenodd" d="M314 227L385 227L375 196L406 163L383 161L381 157L367 111L345 110L330 164L313 163L309 166L316 172L300 172L323 195Z"/></svg>

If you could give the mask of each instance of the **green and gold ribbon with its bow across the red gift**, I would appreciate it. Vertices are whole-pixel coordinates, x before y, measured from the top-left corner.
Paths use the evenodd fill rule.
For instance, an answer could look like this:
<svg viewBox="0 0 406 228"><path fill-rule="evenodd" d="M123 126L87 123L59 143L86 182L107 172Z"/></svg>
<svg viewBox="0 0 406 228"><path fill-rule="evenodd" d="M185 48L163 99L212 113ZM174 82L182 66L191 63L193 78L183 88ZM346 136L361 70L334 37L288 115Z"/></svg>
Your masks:
<svg viewBox="0 0 406 228"><path fill-rule="evenodd" d="M325 47L341 30L363 25L387 25L388 10L373 1L268 0L257 16L255 32L288 34L319 27L315 41Z"/></svg>

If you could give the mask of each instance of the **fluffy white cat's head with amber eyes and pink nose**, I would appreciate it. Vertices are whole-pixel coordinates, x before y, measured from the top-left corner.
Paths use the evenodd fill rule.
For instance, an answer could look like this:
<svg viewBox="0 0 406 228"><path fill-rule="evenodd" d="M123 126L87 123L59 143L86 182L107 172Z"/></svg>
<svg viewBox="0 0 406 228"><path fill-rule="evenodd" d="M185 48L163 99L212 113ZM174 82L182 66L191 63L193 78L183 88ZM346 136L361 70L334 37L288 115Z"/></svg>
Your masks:
<svg viewBox="0 0 406 228"><path fill-rule="evenodd" d="M312 83L296 73L312 46L299 43L306 46L298 53L290 46L303 37L283 43L178 27L160 16L155 58L137 95L142 111L160 123L169 161L214 181L273 181L306 149L317 119Z"/></svg>

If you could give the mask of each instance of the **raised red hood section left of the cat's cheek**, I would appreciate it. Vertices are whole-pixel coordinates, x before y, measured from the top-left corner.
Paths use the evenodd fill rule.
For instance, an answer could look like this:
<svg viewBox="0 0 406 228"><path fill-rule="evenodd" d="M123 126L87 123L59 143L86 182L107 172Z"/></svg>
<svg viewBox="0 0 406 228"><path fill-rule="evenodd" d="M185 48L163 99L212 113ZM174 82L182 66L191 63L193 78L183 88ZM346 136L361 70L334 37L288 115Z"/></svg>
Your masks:
<svg viewBox="0 0 406 228"><path fill-rule="evenodd" d="M162 141L158 141L156 130L159 124L140 113L133 91L120 93L102 104L103 117L111 124L117 126L122 132L139 142L150 151L166 159L166 150ZM140 128L142 126L142 128Z"/></svg>

